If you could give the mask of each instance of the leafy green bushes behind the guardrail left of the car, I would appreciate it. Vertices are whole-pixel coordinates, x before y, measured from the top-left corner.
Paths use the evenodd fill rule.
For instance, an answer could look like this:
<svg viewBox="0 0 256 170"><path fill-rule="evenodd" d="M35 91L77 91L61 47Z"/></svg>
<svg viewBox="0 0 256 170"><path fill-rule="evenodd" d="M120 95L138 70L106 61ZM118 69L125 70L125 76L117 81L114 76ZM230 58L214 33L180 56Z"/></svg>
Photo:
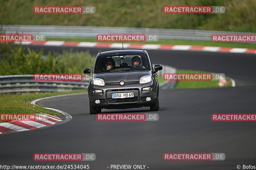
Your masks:
<svg viewBox="0 0 256 170"><path fill-rule="evenodd" d="M35 51L19 44L0 43L0 75L36 73L83 73L92 68L94 58L89 52L63 51L62 54Z"/></svg>

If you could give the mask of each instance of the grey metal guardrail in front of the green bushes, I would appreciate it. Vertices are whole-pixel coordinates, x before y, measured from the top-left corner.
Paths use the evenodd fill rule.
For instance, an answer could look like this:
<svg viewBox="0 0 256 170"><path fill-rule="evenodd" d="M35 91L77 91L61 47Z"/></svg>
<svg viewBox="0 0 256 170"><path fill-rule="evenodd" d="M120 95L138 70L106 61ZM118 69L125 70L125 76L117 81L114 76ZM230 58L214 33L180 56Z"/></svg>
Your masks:
<svg viewBox="0 0 256 170"><path fill-rule="evenodd" d="M33 74L0 76L0 93L61 92L87 89L88 79L82 81L35 81Z"/></svg>

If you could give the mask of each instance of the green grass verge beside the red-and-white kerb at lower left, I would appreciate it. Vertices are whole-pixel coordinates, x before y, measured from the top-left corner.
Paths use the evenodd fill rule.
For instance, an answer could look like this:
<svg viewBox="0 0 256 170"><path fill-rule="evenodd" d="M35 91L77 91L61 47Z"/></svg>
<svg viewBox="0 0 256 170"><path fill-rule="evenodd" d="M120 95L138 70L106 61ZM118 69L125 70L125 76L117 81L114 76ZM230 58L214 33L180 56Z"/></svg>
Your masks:
<svg viewBox="0 0 256 170"><path fill-rule="evenodd" d="M76 90L67 92L39 92L39 93L28 93L28 94L0 94L0 114L1 113L45 113L53 116L59 116L60 114L43 107L31 105L32 100L56 96L61 94L70 94L78 92L87 92L87 90ZM3 122L3 121L0 121Z"/></svg>

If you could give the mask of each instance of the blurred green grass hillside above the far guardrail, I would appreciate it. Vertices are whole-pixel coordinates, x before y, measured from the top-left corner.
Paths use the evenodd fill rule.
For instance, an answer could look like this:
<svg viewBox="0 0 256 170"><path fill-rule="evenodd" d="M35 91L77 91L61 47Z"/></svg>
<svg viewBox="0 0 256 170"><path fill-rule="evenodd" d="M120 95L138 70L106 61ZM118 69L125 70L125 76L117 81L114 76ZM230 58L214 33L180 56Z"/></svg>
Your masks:
<svg viewBox="0 0 256 170"><path fill-rule="evenodd" d="M165 14L163 6L225 6L223 14ZM35 14L34 6L95 6L95 14ZM2 0L1 25L116 26L255 32L255 0Z"/></svg>

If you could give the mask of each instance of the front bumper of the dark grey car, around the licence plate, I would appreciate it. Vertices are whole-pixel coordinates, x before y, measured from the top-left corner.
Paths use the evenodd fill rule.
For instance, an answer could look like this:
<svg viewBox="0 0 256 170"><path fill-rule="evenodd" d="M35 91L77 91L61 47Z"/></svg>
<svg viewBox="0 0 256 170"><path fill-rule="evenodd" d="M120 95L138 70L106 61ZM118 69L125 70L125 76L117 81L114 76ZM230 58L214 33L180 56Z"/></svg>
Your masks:
<svg viewBox="0 0 256 170"><path fill-rule="evenodd" d="M142 91L144 87L151 87L150 90ZM96 93L94 90L102 90L102 93ZM134 92L132 98L112 99L111 93ZM136 107L150 107L157 101L157 87L153 82L145 84L131 85L105 85L96 86L90 84L88 87L90 104L95 109L126 109ZM146 101L150 97L150 101ZM95 100L99 99L100 103L96 104Z"/></svg>

